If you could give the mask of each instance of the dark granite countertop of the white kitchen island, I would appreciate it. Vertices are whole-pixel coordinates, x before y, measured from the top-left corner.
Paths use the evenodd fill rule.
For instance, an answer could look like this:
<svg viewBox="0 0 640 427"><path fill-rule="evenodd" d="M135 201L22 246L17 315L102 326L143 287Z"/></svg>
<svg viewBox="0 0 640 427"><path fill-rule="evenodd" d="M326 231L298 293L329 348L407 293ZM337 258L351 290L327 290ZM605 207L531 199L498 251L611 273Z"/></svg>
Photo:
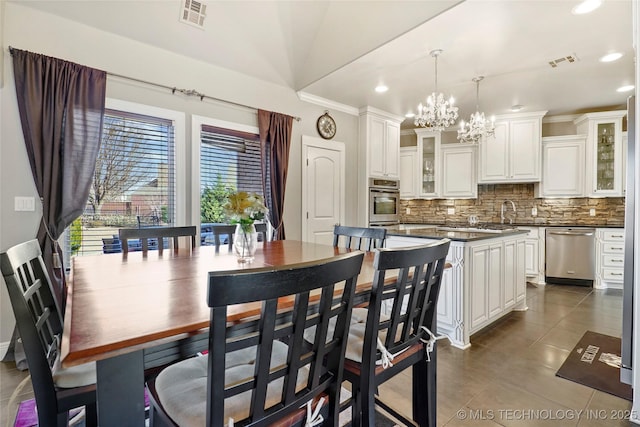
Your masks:
<svg viewBox="0 0 640 427"><path fill-rule="evenodd" d="M418 237L423 239L451 239L461 242L470 242L476 240L485 240L485 239L496 239L502 238L506 236L513 236L516 234L527 234L528 230L519 230L518 228L508 228L504 230L499 230L496 232L495 230L487 229L478 230L478 231L457 231L457 230L443 230L442 227L446 226L436 226L424 224L424 227L418 226L416 224L411 224L409 228L404 228L404 224L402 225L393 225L386 226L387 235L388 236L399 236L399 237Z"/></svg>

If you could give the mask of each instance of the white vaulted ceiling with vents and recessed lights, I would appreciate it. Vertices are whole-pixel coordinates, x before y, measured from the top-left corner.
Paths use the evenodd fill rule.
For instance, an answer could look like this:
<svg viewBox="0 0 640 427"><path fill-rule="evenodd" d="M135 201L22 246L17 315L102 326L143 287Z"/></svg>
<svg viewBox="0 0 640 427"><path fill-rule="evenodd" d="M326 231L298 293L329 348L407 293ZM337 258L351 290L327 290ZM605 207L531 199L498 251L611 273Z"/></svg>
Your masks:
<svg viewBox="0 0 640 427"><path fill-rule="evenodd" d="M603 0L573 15L572 0L204 1L203 28L179 22L176 0L13 0L292 90L397 115L435 89L461 117L476 106L472 78L485 76L488 114L572 114L624 108L634 83L631 0ZM606 53L620 60L602 63ZM575 62L550 61L573 56ZM386 93L375 86L385 84ZM405 122L410 122L407 120Z"/></svg>

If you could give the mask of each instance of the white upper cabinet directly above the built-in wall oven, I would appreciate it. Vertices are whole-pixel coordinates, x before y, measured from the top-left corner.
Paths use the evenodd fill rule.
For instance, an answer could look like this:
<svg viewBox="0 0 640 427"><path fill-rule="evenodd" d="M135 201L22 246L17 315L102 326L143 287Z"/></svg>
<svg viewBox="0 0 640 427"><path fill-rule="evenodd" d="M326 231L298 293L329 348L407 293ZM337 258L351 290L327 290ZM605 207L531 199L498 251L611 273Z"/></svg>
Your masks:
<svg viewBox="0 0 640 427"><path fill-rule="evenodd" d="M383 111L366 108L360 112L361 143L366 147L367 176L400 177L400 123Z"/></svg>

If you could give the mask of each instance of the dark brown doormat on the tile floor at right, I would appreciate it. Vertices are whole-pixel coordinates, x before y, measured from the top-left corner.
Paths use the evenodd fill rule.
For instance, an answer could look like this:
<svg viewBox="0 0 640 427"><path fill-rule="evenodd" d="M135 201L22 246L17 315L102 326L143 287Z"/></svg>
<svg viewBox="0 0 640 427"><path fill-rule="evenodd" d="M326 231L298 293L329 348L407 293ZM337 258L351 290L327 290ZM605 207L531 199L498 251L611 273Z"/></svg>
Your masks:
<svg viewBox="0 0 640 427"><path fill-rule="evenodd" d="M633 401L631 386L620 382L620 338L587 331L556 376Z"/></svg>

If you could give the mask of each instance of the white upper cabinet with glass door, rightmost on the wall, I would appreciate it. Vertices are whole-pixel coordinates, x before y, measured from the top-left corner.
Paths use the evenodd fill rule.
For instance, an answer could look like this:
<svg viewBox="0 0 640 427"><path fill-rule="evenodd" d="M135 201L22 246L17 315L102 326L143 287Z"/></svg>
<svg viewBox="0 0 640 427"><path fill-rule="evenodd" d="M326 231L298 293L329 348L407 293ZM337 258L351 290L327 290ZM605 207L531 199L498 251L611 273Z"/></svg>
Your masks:
<svg viewBox="0 0 640 427"><path fill-rule="evenodd" d="M585 196L624 195L624 153L622 118L626 110L587 113L574 123L578 133L587 135Z"/></svg>

